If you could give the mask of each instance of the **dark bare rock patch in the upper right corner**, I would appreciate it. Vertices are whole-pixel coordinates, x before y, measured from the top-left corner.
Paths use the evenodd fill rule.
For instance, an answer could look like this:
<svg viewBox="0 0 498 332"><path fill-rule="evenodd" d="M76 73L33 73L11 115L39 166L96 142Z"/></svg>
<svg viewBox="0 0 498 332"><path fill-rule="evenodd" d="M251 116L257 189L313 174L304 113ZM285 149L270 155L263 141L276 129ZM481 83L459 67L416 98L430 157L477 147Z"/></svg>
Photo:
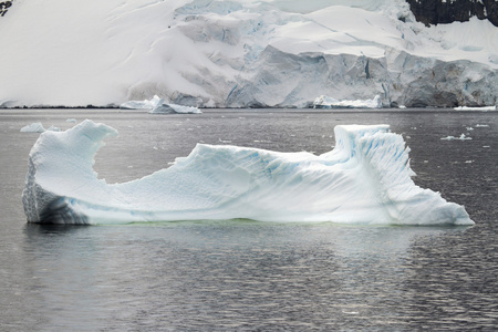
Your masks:
<svg viewBox="0 0 498 332"><path fill-rule="evenodd" d="M498 27L497 0L406 0L417 21L425 24L466 22L471 17L488 19Z"/></svg>

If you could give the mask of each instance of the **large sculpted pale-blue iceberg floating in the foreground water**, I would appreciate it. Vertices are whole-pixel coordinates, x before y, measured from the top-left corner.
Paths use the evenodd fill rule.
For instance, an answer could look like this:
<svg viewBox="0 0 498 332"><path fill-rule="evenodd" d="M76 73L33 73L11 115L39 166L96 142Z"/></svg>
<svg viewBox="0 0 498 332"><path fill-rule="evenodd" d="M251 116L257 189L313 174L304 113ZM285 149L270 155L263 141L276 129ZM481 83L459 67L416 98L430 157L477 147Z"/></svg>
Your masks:
<svg viewBox="0 0 498 332"><path fill-rule="evenodd" d="M137 180L106 184L94 156L117 132L84 121L45 132L22 195L30 222L112 224L248 218L261 221L473 225L465 209L417 187L408 147L388 125L341 125L323 155L198 144Z"/></svg>

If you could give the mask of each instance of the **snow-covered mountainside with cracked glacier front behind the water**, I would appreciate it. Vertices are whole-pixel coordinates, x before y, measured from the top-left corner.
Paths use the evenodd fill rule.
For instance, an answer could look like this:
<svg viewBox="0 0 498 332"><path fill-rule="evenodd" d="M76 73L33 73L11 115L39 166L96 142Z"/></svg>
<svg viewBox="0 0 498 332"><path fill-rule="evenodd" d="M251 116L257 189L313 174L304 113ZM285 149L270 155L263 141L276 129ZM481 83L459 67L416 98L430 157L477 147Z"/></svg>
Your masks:
<svg viewBox="0 0 498 332"><path fill-rule="evenodd" d="M498 28L426 27L404 0L17 0L0 105L496 105Z"/></svg>

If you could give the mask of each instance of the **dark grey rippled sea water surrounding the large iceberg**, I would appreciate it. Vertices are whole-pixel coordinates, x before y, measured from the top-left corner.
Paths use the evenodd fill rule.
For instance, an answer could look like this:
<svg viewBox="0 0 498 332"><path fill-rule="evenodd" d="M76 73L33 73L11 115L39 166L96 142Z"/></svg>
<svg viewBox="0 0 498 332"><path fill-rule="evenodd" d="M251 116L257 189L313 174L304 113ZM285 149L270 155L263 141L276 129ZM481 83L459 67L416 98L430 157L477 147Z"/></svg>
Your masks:
<svg viewBox="0 0 498 332"><path fill-rule="evenodd" d="M68 118L118 129L96 157L107 183L167 167L198 142L321 154L338 124L390 124L412 148L415 181L465 205L476 226L27 224L39 134L20 128L66 129ZM473 139L440 139L460 134ZM0 139L0 331L498 329L497 112L2 110Z"/></svg>

